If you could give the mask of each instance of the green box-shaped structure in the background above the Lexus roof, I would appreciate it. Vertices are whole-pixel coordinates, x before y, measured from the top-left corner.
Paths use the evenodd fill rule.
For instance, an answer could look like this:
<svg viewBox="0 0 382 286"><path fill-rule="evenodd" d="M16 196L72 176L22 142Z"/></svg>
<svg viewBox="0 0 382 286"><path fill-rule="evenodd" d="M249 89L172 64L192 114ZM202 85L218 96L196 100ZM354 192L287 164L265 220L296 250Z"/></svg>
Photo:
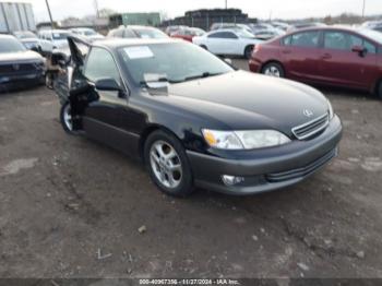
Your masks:
<svg viewBox="0 0 382 286"><path fill-rule="evenodd" d="M120 25L144 25L158 26L160 24L159 13L121 13L109 16L110 27Z"/></svg>

